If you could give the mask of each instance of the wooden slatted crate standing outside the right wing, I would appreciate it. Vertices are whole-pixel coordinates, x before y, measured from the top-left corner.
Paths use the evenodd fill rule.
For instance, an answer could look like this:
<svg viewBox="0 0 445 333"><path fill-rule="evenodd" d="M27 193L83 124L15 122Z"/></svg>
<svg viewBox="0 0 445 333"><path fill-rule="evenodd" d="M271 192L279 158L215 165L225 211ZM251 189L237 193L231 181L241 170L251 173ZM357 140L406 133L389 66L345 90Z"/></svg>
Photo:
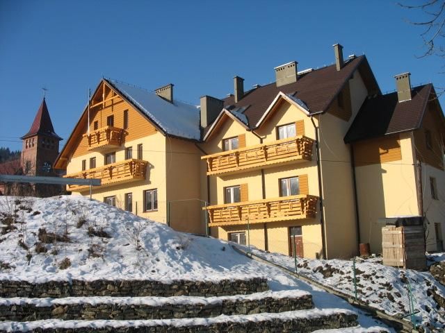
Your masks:
<svg viewBox="0 0 445 333"><path fill-rule="evenodd" d="M382 250L384 265L426 269L423 225L383 227Z"/></svg>

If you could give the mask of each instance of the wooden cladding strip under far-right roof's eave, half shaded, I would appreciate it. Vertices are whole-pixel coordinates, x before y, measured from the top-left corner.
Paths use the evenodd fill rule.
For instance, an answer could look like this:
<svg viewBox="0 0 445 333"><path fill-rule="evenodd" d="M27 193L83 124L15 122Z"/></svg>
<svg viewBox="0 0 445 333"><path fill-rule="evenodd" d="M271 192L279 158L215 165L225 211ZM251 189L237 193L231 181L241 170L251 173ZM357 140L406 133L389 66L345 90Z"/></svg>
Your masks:
<svg viewBox="0 0 445 333"><path fill-rule="evenodd" d="M353 148L356 167L402 160L401 140L398 135L356 142Z"/></svg>

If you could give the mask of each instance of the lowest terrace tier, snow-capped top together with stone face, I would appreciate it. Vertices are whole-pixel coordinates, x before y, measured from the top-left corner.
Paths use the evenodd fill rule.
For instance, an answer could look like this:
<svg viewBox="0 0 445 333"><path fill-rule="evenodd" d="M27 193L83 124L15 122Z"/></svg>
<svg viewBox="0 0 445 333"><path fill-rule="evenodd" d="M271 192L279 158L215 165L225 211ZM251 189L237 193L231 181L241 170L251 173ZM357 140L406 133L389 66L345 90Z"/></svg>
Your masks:
<svg viewBox="0 0 445 333"><path fill-rule="evenodd" d="M357 314L345 309L311 309L279 314L248 314L215 318L164 319L149 321L61 321L51 319L30 322L0 323L0 332L45 333L204 333L204 332L270 332L309 333L323 329L357 326ZM343 331L342 331L343 332Z"/></svg>

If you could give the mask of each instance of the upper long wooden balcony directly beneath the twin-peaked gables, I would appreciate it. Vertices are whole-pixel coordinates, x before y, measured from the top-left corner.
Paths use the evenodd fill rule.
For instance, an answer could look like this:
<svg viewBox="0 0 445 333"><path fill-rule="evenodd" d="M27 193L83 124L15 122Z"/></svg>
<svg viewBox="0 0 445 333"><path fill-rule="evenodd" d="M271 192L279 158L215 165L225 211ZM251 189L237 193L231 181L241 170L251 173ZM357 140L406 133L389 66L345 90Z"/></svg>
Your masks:
<svg viewBox="0 0 445 333"><path fill-rule="evenodd" d="M264 169L274 164L312 160L314 140L298 136L267 144L249 146L202 156L207 162L207 176L236 173L244 170Z"/></svg>

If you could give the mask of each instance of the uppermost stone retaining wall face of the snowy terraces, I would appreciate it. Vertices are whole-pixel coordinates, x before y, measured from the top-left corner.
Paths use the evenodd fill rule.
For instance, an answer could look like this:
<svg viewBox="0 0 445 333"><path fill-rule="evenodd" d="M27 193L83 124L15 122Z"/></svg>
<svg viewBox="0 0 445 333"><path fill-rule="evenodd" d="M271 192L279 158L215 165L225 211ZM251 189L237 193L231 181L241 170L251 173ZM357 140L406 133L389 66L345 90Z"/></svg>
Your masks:
<svg viewBox="0 0 445 333"><path fill-rule="evenodd" d="M33 284L0 280L0 297L63 298L80 296L234 296L269 289L264 278L221 280L218 282L178 280L170 284L149 280L51 281Z"/></svg>

